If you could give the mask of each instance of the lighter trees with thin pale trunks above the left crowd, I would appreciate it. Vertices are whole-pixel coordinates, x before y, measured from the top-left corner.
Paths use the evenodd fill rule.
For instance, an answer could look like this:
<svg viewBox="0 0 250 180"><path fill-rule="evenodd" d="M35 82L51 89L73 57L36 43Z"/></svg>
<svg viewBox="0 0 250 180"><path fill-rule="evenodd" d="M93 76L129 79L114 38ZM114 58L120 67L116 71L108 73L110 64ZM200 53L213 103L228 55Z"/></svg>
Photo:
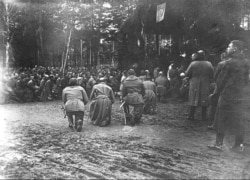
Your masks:
<svg viewBox="0 0 250 180"><path fill-rule="evenodd" d="M113 41L134 8L135 0L2 1L1 51L9 42L19 66L96 65L100 40Z"/></svg>

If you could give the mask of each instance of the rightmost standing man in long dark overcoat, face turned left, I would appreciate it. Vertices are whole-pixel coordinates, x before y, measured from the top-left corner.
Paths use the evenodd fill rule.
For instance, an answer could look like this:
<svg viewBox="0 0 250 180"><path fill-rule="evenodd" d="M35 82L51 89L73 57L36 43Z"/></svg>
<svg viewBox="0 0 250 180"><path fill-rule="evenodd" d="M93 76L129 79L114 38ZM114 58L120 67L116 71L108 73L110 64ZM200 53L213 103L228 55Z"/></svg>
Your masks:
<svg viewBox="0 0 250 180"><path fill-rule="evenodd" d="M244 102L248 99L245 87L248 83L249 66L244 59L242 41L233 40L227 48L229 59L225 61L218 77L217 87L211 98L217 98L215 114L216 141L209 148L223 150L226 131L235 134L233 148L243 146L244 138Z"/></svg>

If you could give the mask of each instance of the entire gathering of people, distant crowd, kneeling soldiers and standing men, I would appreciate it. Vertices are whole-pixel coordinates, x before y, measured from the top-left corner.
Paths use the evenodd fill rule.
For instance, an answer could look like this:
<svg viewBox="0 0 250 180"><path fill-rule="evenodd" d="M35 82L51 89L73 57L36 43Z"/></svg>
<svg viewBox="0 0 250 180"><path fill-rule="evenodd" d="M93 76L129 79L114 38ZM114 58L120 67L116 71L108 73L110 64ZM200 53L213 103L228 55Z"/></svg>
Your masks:
<svg viewBox="0 0 250 180"><path fill-rule="evenodd" d="M196 109L201 107L201 120L209 122L208 129L216 130L216 141L209 148L222 150L228 129L233 129L234 148L239 148L243 144L245 122L240 109L245 100L244 87L249 81L244 50L244 43L234 40L217 67L199 50L192 54L187 69L173 62L167 71L156 67L152 72L141 70L139 74L133 67L123 72L109 67L69 68L64 73L59 68L41 66L9 69L3 73L1 103L62 98L69 127L81 131L88 101L91 101L92 124L107 126L111 123L112 104L118 96L125 123L133 126L140 123L143 114L156 114L157 102L165 103L169 97L188 100L187 119L194 121Z"/></svg>

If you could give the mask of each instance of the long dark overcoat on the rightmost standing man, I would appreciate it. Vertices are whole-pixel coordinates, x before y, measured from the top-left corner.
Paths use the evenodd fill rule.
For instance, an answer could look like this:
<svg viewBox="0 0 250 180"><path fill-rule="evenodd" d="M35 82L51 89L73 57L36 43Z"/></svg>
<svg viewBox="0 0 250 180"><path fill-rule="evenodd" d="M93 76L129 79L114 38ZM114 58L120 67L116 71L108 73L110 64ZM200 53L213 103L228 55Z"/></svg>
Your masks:
<svg viewBox="0 0 250 180"><path fill-rule="evenodd" d="M225 61L217 80L214 95L219 96L215 114L215 128L218 133L230 130L244 133L247 103L249 103L249 65L240 55Z"/></svg>

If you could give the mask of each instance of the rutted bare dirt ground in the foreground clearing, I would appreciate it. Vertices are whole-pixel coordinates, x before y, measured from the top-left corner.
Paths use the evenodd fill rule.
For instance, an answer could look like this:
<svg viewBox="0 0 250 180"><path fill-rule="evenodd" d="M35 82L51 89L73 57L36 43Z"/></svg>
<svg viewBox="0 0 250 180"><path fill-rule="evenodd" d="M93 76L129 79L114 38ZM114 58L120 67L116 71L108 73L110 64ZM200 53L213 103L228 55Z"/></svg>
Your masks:
<svg viewBox="0 0 250 180"><path fill-rule="evenodd" d="M229 149L233 136L223 152L209 150L215 132L207 122L186 120L186 103L158 104L156 115L134 127L123 124L118 101L109 127L91 125L87 106L80 133L68 128L61 105L0 105L0 178L250 178L250 133L244 152Z"/></svg>

